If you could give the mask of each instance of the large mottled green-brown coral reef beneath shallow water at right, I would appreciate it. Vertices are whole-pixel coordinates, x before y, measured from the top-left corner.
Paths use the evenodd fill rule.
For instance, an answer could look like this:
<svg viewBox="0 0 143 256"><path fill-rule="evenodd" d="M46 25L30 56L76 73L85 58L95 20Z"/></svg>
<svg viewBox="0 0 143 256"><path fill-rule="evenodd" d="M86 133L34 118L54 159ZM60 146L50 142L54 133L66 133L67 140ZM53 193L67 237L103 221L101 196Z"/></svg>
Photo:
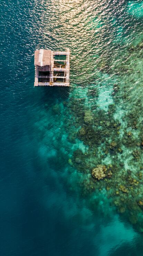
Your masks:
<svg viewBox="0 0 143 256"><path fill-rule="evenodd" d="M139 64L143 57L142 44L132 44L126 52L121 48L119 61L113 53L111 63L108 62L108 73L116 74L117 79L113 81L114 104L108 106L107 112L96 101L90 110L85 104L78 111L74 109L76 121L81 125L77 137L88 150L85 154L75 151L81 159L79 164L74 155L72 159L79 172L89 175L82 182L82 195L105 189L111 205L140 232L143 232L140 217L143 212L143 68ZM100 71L106 72L105 63L101 62ZM138 83L132 90L136 80Z"/></svg>

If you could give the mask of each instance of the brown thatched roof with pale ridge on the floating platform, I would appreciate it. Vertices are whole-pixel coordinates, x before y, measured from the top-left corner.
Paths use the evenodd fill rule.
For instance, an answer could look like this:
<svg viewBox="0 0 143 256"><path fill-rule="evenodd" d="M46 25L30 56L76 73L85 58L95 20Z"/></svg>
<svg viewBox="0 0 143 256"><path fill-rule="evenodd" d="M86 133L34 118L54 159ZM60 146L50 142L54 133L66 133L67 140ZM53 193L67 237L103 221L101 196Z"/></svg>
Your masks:
<svg viewBox="0 0 143 256"><path fill-rule="evenodd" d="M36 50L34 56L34 65L46 66L51 65L51 51L50 50Z"/></svg>

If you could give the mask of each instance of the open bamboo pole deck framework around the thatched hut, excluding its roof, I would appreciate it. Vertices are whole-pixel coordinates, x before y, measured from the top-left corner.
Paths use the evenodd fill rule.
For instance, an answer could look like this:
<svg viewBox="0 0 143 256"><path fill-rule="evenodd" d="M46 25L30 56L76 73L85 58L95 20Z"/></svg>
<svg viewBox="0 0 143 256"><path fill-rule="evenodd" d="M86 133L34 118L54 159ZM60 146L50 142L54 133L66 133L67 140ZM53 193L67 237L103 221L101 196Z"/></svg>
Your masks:
<svg viewBox="0 0 143 256"><path fill-rule="evenodd" d="M57 58L54 59L55 56L61 56L61 55L66 55L66 60L58 60ZM38 68L38 66L35 66L35 83L34 86L69 86L69 69L70 69L70 64L69 64L69 56L70 56L70 51L67 49L67 51L51 51L51 65L49 67L50 74L49 76L44 76L44 75L39 75L39 71L41 69ZM57 62L62 61L62 65L58 65ZM56 63L55 63L56 62ZM58 67L59 66L59 67ZM64 67L63 67L64 66ZM54 75L54 72L64 72L64 74L56 74ZM44 82L38 82L38 79L42 80L49 80L49 81L44 81ZM55 81L55 79L62 79L62 82Z"/></svg>

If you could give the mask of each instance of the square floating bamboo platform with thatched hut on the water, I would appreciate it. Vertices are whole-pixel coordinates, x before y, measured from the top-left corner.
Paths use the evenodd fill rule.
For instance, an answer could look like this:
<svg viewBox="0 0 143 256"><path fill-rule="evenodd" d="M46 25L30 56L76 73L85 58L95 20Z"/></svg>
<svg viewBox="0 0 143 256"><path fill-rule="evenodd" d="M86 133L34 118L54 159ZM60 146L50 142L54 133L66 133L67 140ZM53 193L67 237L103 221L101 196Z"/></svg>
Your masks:
<svg viewBox="0 0 143 256"><path fill-rule="evenodd" d="M65 59L63 59L64 56ZM69 49L66 51L36 50L34 86L69 86L69 56Z"/></svg>

